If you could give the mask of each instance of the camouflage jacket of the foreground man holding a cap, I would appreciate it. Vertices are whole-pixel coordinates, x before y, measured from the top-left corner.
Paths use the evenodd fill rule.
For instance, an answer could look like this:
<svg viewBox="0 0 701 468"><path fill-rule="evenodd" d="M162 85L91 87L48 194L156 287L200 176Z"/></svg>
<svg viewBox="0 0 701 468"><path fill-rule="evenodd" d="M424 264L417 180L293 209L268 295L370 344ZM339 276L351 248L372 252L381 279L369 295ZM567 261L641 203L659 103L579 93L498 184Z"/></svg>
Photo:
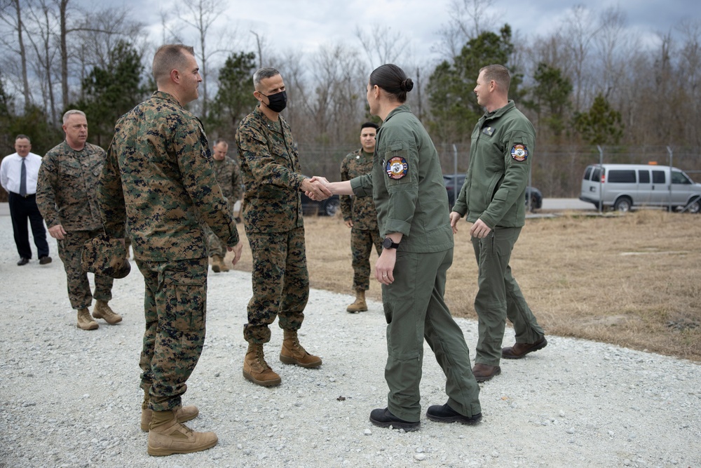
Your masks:
<svg viewBox="0 0 701 468"><path fill-rule="evenodd" d="M202 124L168 93L156 91L117 121L97 197L105 234L123 238L128 218L135 258L206 257L200 222L227 246L238 243Z"/></svg>

